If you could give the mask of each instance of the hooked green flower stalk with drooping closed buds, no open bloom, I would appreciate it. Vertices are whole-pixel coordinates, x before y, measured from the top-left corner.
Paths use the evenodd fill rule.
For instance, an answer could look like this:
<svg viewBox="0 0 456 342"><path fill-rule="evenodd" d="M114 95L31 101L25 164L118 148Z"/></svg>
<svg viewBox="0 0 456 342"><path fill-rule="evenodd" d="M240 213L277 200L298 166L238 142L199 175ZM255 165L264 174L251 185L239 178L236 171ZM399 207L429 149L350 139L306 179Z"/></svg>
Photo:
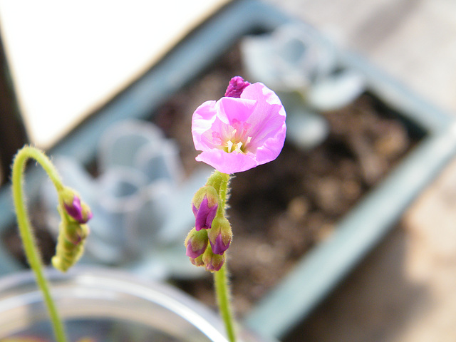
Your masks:
<svg viewBox="0 0 456 342"><path fill-rule="evenodd" d="M31 229L30 218L25 204L23 177L26 162L36 160L46 171L53 182L58 194L58 212L61 216L59 226L56 256L52 264L60 271L66 271L78 261L83 253L84 242L88 236L87 222L92 217L92 212L79 195L70 187L65 187L51 160L35 147L24 146L14 157L12 173L12 190L14 208L16 209L17 224L21 236L24 252L28 264L35 274L36 284L43 295L43 301L48 309L49 318L53 326L53 333L57 342L66 342L66 333L63 322L58 314L56 304L51 296L51 289L44 276L43 261L36 246L36 240Z"/></svg>

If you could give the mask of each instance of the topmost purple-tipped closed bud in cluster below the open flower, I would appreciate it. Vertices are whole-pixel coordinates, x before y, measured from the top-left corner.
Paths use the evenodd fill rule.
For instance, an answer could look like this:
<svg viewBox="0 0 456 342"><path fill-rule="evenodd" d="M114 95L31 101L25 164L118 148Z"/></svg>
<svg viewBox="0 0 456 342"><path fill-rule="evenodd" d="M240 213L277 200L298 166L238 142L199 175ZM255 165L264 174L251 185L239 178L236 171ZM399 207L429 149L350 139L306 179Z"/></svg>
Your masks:
<svg viewBox="0 0 456 342"><path fill-rule="evenodd" d="M218 207L219 195L214 187L205 185L195 193L192 200L192 210L195 215L196 230L210 229Z"/></svg>

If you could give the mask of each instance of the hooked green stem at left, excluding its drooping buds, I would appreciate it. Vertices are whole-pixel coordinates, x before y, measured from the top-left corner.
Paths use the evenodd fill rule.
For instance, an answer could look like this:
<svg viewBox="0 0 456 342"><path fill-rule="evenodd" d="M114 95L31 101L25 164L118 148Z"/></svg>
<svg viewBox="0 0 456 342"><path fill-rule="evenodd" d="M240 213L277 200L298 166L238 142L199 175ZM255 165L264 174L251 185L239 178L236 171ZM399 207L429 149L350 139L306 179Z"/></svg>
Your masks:
<svg viewBox="0 0 456 342"><path fill-rule="evenodd" d="M23 147L21 150L19 150L16 157L14 158L12 175L14 207L16 208L19 233L21 234L21 239L24 245L26 257L28 259L28 264L30 264L31 269L35 274L36 284L38 284L38 288L41 290L44 302L48 308L48 313L51 318L56 341L66 342L63 323L58 316L56 305L51 297L48 281L46 281L46 277L43 273L43 261L41 261L38 247L36 247L33 232L31 230L30 219L28 218L28 212L24 204L25 202L24 190L22 189L22 176L24 174L26 161L31 158L36 160L43 167L55 185L56 190L61 190L63 188L63 185L61 183L60 177L58 176L57 170L51 163L51 160L49 160L43 152L30 146Z"/></svg>

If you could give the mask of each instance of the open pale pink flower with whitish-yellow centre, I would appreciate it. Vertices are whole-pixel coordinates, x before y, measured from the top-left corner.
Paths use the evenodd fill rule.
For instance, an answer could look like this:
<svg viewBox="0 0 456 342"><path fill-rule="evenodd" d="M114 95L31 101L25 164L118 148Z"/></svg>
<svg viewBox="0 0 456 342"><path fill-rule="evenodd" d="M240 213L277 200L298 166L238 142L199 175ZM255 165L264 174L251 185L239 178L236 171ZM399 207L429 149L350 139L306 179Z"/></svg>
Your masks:
<svg viewBox="0 0 456 342"><path fill-rule="evenodd" d="M263 83L246 86L240 98L206 101L192 118L193 142L202 151L196 160L228 174L270 162L284 146L285 118L279 98Z"/></svg>

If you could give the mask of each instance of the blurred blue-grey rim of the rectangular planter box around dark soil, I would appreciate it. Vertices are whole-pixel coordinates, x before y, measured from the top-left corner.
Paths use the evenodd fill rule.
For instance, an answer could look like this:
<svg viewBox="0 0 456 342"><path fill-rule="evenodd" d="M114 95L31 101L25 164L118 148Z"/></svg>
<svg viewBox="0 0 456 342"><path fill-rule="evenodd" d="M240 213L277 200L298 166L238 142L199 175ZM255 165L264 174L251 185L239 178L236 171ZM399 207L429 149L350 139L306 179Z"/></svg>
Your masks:
<svg viewBox="0 0 456 342"><path fill-rule="evenodd" d="M190 33L142 78L48 151L49 155L67 155L87 164L95 157L98 138L108 125L125 118L149 117L239 38L272 31L293 21L295 19L259 1L234 1ZM305 27L318 37L314 28ZM347 51L339 51L339 54L344 66L363 74L370 93L426 135L387 179L339 222L336 232L306 254L245 318L247 326L266 337L283 336L306 318L398 222L408 205L456 152L456 125L451 115L425 103L360 56ZM38 179L38 173L33 171L27 175L28 192L32 197L36 192L33 179ZM9 186L5 186L0 191L0 233L11 224L14 224L14 211ZM4 247L0 247L0 260L0 274L21 268L6 254Z"/></svg>

